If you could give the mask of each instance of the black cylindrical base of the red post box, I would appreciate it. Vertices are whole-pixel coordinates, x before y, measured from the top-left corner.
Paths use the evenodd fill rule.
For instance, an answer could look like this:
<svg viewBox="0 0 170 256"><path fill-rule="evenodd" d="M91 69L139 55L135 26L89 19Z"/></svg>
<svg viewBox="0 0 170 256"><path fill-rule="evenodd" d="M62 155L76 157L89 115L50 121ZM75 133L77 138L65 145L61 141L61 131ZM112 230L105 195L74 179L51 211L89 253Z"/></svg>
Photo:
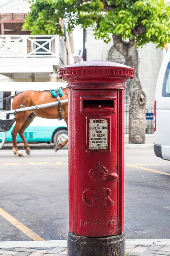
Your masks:
<svg viewBox="0 0 170 256"><path fill-rule="evenodd" d="M68 256L125 256L125 233L93 238L68 232Z"/></svg>

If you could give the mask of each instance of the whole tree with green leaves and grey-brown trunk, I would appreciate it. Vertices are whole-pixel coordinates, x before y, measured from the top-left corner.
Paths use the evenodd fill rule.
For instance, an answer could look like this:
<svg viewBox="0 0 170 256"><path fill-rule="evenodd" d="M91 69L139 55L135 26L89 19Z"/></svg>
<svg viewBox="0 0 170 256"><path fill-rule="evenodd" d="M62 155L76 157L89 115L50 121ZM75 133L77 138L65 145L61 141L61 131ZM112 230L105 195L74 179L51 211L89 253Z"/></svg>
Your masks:
<svg viewBox="0 0 170 256"><path fill-rule="evenodd" d="M68 30L91 26L96 38L108 43L137 69L136 48L152 42L164 47L170 42L170 5L164 0L30 0L31 12L23 29L32 34L62 35L60 19ZM127 82L130 96L129 143L145 143L146 96L138 75Z"/></svg>

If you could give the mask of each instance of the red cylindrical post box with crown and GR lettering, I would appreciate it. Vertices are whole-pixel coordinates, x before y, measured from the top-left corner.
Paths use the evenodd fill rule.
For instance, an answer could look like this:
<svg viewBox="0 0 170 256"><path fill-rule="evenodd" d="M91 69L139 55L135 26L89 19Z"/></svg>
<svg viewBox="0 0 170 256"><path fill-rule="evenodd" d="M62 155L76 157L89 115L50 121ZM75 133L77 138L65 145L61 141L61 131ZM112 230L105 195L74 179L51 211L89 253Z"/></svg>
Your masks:
<svg viewBox="0 0 170 256"><path fill-rule="evenodd" d="M124 256L124 89L133 68L59 68L69 91L68 256Z"/></svg>

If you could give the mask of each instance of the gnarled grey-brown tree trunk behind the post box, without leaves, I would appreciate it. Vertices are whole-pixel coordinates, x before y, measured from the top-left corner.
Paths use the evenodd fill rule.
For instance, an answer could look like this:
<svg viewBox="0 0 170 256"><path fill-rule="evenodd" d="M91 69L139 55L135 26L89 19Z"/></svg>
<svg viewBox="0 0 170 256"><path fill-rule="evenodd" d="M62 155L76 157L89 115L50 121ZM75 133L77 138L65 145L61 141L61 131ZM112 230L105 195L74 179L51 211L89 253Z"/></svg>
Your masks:
<svg viewBox="0 0 170 256"><path fill-rule="evenodd" d="M128 44L122 41L122 38L113 36L114 47L126 60L126 65L137 69L138 52L136 50L135 39ZM127 81L127 90L130 96L129 108L129 143L145 143L145 120L146 120L146 95L142 90L138 75L134 79Z"/></svg>

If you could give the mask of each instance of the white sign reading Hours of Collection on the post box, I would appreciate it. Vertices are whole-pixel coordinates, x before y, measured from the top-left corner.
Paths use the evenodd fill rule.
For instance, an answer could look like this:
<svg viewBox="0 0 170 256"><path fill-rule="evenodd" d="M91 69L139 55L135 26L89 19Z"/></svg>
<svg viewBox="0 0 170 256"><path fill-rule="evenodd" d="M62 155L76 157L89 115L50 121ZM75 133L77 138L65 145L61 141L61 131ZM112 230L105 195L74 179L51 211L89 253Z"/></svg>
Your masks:
<svg viewBox="0 0 170 256"><path fill-rule="evenodd" d="M89 149L108 149L108 120L89 119Z"/></svg>

